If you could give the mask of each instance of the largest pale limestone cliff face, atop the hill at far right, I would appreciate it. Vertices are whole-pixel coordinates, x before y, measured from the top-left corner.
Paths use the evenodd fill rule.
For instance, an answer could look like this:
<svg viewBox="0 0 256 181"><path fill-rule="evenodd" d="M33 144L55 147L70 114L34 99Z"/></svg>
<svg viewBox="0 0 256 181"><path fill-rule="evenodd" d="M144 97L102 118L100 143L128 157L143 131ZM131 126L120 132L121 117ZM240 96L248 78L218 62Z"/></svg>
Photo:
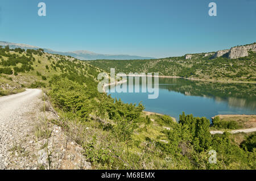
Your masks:
<svg viewBox="0 0 256 181"><path fill-rule="evenodd" d="M240 47L232 47L229 50L229 59L235 59L235 58L240 58L240 57L246 57L248 56L248 51L253 50L256 52L256 44L251 44L251 45L245 45L245 46L240 46Z"/></svg>

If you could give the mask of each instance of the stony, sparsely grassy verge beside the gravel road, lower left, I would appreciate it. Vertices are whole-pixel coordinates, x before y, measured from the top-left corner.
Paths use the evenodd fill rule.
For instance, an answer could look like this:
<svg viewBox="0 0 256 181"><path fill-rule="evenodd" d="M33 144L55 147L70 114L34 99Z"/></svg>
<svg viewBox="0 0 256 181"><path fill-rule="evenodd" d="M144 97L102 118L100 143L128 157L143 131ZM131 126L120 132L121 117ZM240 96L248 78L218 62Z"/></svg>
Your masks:
<svg viewBox="0 0 256 181"><path fill-rule="evenodd" d="M0 169L91 169L81 146L53 119L51 105L35 98L0 121Z"/></svg>

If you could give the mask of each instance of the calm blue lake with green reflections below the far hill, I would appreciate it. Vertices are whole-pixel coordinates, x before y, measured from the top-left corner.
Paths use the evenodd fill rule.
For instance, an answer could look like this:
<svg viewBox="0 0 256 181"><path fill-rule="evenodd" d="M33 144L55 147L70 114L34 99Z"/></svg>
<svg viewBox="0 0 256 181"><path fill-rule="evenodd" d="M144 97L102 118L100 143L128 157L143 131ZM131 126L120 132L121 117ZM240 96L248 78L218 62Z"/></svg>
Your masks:
<svg viewBox="0 0 256 181"><path fill-rule="evenodd" d="M134 81L135 82L135 81ZM142 88L142 83L134 83ZM111 90L111 89L110 89ZM142 102L145 111L175 117L184 111L196 117L219 114L256 114L256 85L253 83L220 83L182 78L159 78L159 97L148 99L148 93L109 93L124 103ZM211 120L211 119L210 119Z"/></svg>

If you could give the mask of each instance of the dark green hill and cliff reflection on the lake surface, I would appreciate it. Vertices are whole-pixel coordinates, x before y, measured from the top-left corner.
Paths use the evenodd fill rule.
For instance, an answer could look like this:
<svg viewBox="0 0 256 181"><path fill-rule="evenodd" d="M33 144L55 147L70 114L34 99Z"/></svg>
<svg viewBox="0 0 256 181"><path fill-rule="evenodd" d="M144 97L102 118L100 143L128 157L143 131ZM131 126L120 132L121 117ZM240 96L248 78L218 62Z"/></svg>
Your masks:
<svg viewBox="0 0 256 181"><path fill-rule="evenodd" d="M159 78L159 87L184 95L206 96L232 107L256 110L256 86L253 83L220 83L191 81L181 78Z"/></svg>

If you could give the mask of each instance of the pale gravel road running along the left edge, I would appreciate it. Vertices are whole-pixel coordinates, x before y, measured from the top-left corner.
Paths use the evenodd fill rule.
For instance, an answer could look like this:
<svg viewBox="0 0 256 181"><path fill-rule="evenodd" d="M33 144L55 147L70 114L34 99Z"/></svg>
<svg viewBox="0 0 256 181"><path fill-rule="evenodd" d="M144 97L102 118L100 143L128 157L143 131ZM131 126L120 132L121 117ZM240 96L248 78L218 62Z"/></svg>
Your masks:
<svg viewBox="0 0 256 181"><path fill-rule="evenodd" d="M23 119L25 113L35 109L35 102L42 95L42 90L27 89L15 95L0 97L0 169L8 164L7 151L14 142L26 135L27 120Z"/></svg>

